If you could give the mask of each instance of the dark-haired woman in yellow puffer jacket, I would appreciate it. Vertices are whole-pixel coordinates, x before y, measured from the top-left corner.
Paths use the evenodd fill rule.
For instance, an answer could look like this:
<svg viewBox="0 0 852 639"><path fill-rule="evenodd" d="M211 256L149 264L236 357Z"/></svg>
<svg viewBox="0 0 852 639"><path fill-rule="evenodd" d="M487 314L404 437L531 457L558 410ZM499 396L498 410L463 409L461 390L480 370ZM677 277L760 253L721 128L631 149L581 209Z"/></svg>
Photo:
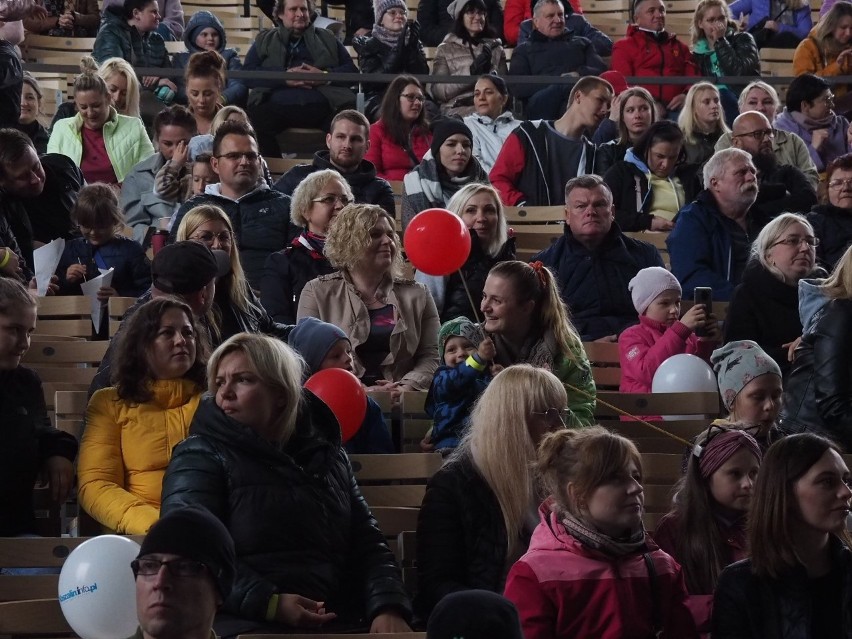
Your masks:
<svg viewBox="0 0 852 639"><path fill-rule="evenodd" d="M160 516L172 449L189 433L208 348L189 306L147 302L118 336L113 387L86 411L77 466L80 504L105 528L141 535Z"/></svg>

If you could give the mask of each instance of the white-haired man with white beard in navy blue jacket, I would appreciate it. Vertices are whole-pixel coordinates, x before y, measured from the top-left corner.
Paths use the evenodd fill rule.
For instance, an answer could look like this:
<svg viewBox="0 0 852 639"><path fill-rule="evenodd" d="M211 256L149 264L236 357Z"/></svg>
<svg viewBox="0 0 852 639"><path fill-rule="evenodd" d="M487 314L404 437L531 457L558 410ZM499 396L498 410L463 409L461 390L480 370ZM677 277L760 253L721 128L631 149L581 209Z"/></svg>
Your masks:
<svg viewBox="0 0 852 639"><path fill-rule="evenodd" d="M699 286L728 301L742 279L751 243L769 221L749 208L757 199L757 169L740 149L716 152L704 165L704 190L674 219L666 245L685 299Z"/></svg>

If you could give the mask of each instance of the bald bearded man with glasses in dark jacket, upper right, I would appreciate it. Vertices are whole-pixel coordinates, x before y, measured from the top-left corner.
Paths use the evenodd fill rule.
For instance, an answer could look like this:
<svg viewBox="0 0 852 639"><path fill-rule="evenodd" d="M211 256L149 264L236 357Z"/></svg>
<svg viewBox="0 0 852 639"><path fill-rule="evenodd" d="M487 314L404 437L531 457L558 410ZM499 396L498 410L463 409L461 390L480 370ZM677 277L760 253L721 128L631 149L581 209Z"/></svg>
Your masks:
<svg viewBox="0 0 852 639"><path fill-rule="evenodd" d="M805 214L816 204L816 191L797 167L778 163L772 150L774 136L769 120L758 111L741 113L734 120L731 145L751 155L757 168L760 190L752 210L769 217Z"/></svg>

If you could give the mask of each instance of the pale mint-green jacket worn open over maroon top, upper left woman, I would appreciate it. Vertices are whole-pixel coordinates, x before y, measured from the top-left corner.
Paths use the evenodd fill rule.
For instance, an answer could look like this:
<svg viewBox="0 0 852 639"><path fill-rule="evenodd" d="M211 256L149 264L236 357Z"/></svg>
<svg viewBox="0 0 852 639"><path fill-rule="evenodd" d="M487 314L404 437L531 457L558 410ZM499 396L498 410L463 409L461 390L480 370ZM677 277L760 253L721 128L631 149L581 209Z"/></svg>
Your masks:
<svg viewBox="0 0 852 639"><path fill-rule="evenodd" d="M83 117L79 113L73 118L58 120L47 142L47 152L67 155L80 166L83 159L82 128ZM154 145L139 118L120 115L110 107L110 117L103 131L107 155L119 182L124 182L134 166L154 154Z"/></svg>

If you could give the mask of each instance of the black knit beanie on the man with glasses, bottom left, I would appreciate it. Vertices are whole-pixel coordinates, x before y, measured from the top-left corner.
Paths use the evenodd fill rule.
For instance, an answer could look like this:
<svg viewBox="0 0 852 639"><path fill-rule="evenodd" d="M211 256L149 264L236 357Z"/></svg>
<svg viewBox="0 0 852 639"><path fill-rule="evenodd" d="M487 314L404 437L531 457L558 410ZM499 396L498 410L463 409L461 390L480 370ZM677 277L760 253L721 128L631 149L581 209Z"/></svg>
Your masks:
<svg viewBox="0 0 852 639"><path fill-rule="evenodd" d="M210 511L184 506L163 515L145 535L137 558L153 554L203 563L210 569L222 599L231 594L237 563L234 541L225 524Z"/></svg>

